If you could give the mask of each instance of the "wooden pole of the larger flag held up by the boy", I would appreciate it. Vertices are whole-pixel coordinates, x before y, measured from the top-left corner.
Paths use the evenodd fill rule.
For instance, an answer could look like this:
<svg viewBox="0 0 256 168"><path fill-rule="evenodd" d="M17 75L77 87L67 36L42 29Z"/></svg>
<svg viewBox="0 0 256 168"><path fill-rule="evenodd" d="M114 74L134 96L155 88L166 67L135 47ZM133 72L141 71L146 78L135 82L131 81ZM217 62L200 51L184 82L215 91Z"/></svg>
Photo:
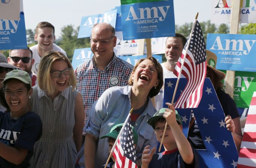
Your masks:
<svg viewBox="0 0 256 168"><path fill-rule="evenodd" d="M197 21L197 17L198 17L198 12L197 12L197 15L196 15L196 17L195 17L195 21L194 21L193 27L192 27L191 32L190 32L190 35L189 35L189 40L187 41L187 44L188 44L188 45L187 45L187 48L186 48L186 51L185 51L185 54L184 54L184 59L183 59L183 61L182 61L181 67L180 67L180 73L179 73L179 76L178 76L178 79L177 79L177 82L176 82L176 86L175 86L175 89L174 89L174 94L173 94L173 96L172 96L172 103L171 103L171 104L173 104L173 102L174 102L174 97L175 97L175 94L176 94L176 91L177 91L177 88L178 88L178 83L179 83L179 81L180 81L181 71L182 71L182 68L183 68L184 60L185 60L186 55L187 55L187 50L188 50L188 48L189 48L190 40L191 40L192 33L193 33L193 30L194 30L194 27L195 27L195 23L196 23L196 21ZM162 144L163 144L163 139L165 138L166 129L167 129L167 122L165 123L165 130L163 131L163 136L162 136L162 139L161 139L161 143L160 143L158 152L161 151L161 147L162 147Z"/></svg>

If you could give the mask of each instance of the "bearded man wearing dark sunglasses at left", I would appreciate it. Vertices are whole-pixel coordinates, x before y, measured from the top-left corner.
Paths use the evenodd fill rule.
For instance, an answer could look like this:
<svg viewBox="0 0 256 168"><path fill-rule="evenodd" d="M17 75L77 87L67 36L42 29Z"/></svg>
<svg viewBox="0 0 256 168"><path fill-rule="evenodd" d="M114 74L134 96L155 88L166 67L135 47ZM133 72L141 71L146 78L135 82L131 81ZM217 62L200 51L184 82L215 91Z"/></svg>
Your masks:
<svg viewBox="0 0 256 168"><path fill-rule="evenodd" d="M14 49L9 51L8 63L26 71L32 80L32 86L37 84L37 76L31 71L34 65L33 53L27 49Z"/></svg>

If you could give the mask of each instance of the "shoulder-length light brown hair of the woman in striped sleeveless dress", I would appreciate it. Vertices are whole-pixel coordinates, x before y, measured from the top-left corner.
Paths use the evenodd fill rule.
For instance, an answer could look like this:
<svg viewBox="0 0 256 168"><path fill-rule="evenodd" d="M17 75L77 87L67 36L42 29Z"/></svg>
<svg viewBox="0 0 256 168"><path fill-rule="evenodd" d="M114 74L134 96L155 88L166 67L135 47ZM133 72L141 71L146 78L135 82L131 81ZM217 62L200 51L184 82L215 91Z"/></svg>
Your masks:
<svg viewBox="0 0 256 168"><path fill-rule="evenodd" d="M37 74L37 81L40 89L48 92L49 94L53 94L55 92L55 87L50 77L50 70L52 68L52 64L55 61L62 61L62 60L67 62L69 68L72 68L71 74L69 76L68 86L72 86L73 91L75 90L76 88L75 71L69 59L64 54L58 51L49 51L45 53L40 60L40 63L38 66L38 74Z"/></svg>

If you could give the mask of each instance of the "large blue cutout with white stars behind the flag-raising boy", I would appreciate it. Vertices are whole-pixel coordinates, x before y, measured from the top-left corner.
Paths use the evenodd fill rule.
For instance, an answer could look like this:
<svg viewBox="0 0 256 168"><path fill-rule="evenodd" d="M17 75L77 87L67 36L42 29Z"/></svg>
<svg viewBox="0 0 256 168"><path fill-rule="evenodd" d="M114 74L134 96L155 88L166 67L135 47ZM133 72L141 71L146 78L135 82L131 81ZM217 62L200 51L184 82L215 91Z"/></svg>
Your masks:
<svg viewBox="0 0 256 168"><path fill-rule="evenodd" d="M177 78L165 79L164 103L172 101L172 95ZM186 78L180 78L174 102L186 86ZM164 104L165 105L165 104ZM163 106L163 107L166 107ZM182 126L187 135L187 123L193 110L206 150L197 150L200 154L200 167L235 168L238 161L238 151L232 134L226 128L225 115L219 103L214 87L209 78L204 80L203 94L200 104L193 109L176 109L182 118ZM185 115L186 114L186 115ZM186 121L186 123L185 123Z"/></svg>

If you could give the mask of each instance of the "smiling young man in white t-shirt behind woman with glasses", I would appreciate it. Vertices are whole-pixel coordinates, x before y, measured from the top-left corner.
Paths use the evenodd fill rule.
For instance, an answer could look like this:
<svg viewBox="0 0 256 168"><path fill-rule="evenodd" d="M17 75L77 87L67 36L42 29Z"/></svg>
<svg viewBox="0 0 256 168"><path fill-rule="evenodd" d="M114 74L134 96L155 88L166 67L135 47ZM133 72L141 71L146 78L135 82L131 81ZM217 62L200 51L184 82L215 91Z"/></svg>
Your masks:
<svg viewBox="0 0 256 168"><path fill-rule="evenodd" d="M53 44L55 40L54 33L54 26L49 22L43 21L37 24L34 36L37 45L30 47L30 50L33 51L33 58L35 59L35 63L32 66L32 72L36 75L40 59L44 53L48 51L59 51L67 56L66 52L61 47Z"/></svg>

